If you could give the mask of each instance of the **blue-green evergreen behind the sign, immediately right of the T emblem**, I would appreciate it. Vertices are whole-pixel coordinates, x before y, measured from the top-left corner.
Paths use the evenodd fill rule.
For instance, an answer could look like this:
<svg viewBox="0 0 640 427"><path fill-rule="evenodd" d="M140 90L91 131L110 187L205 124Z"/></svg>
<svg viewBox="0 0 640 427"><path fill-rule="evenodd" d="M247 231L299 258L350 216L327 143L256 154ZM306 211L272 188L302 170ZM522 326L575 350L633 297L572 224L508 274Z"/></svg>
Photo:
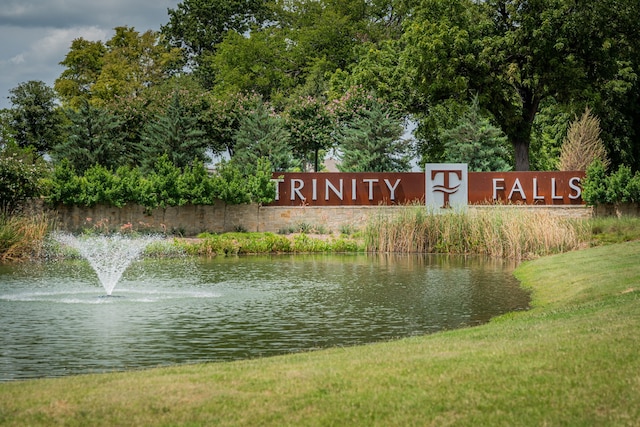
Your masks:
<svg viewBox="0 0 640 427"><path fill-rule="evenodd" d="M477 97L454 128L442 131L441 139L445 162L467 163L476 172L511 170L507 138L481 116Z"/></svg>

